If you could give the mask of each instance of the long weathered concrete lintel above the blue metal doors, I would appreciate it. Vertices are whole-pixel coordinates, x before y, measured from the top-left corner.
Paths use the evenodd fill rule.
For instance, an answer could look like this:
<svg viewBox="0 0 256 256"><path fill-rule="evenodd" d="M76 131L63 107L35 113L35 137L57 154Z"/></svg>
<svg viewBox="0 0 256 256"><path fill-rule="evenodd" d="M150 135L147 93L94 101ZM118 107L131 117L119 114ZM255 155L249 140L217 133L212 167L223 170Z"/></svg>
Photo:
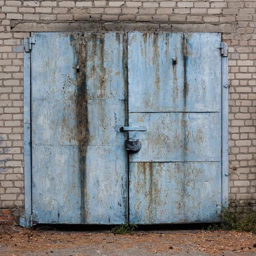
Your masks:
<svg viewBox="0 0 256 256"><path fill-rule="evenodd" d="M13 32L169 31L236 32L236 24L156 24L156 23L18 23Z"/></svg>

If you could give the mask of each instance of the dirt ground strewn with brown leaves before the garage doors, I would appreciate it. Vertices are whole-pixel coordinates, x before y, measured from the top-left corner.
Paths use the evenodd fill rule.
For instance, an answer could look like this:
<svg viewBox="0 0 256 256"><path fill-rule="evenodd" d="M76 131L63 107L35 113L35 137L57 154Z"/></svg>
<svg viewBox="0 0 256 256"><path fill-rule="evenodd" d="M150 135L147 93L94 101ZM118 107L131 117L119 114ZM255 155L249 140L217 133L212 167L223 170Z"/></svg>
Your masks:
<svg viewBox="0 0 256 256"><path fill-rule="evenodd" d="M0 256L256 256L256 236L235 231L21 230L0 233ZM255 246L255 247L254 247Z"/></svg>

